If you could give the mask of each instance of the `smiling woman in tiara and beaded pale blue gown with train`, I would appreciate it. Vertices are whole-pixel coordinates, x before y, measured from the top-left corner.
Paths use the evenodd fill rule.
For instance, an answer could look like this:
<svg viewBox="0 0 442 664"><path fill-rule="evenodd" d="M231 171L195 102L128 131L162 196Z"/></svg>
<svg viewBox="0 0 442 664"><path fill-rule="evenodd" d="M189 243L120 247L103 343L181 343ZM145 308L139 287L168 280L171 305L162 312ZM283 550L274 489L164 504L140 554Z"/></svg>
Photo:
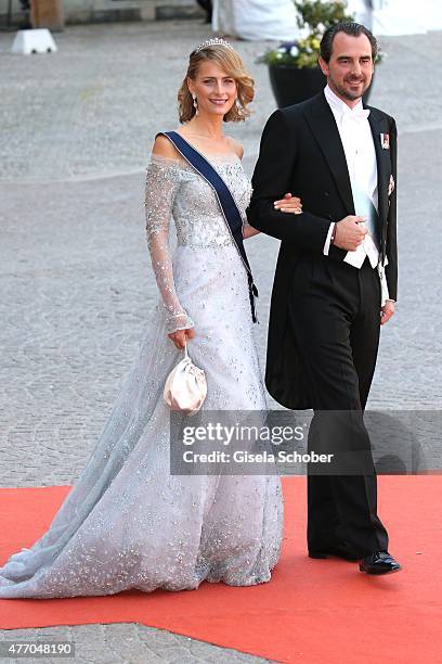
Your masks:
<svg viewBox="0 0 442 664"><path fill-rule="evenodd" d="M223 136L222 122L244 119L251 99L252 80L231 47L209 42L191 54L179 94L180 131L229 186L245 237L257 232L245 217L250 182L242 149ZM297 200L286 205L290 212ZM83 472L48 531L0 567L0 598L183 590L203 580L249 586L269 582L278 560L276 474L170 473L162 388L185 340L207 375L204 408L263 410L265 396L237 247L214 192L164 136L147 166L145 206L160 301Z"/></svg>

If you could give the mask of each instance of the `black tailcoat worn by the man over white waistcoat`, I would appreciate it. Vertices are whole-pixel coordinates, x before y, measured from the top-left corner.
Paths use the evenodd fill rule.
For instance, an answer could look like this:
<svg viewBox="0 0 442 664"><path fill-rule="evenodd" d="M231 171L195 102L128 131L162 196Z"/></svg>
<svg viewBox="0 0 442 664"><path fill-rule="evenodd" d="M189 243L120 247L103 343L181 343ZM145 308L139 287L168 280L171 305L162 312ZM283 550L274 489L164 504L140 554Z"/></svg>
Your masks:
<svg viewBox="0 0 442 664"><path fill-rule="evenodd" d="M381 253L388 257L389 294L396 299L396 189L389 195L391 176L396 182L396 128L391 116L366 107L377 157ZM388 149L382 146L381 135L389 137ZM300 258L323 255L330 221L354 215L346 155L324 92L275 111L269 118L252 187L249 224L282 241L272 292L265 384L283 406L311 408L299 349L288 332L288 295ZM306 212L292 215L274 209L274 201L287 192L300 196ZM332 246L324 260L341 263L344 256L343 250Z"/></svg>

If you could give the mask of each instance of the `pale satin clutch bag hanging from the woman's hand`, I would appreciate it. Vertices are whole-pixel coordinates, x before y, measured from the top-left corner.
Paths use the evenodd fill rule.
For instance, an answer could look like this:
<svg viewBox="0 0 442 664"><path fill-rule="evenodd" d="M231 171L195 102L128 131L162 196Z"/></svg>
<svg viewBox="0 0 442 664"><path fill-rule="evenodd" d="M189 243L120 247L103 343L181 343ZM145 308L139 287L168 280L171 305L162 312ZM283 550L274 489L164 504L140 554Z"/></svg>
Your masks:
<svg viewBox="0 0 442 664"><path fill-rule="evenodd" d="M193 363L185 344L183 359L173 367L166 379L165 403L171 410L180 410L191 416L198 412L206 396L206 373Z"/></svg>

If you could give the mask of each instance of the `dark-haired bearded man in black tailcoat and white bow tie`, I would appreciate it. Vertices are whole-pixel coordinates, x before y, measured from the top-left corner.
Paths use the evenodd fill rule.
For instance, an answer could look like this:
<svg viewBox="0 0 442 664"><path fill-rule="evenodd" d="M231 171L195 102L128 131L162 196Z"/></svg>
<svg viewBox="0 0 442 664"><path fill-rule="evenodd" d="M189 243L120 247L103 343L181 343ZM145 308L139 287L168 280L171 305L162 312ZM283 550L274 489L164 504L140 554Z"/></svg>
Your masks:
<svg viewBox="0 0 442 664"><path fill-rule="evenodd" d="M362 102L376 54L376 39L358 23L326 30L320 66L327 86L268 120L247 214L251 226L282 241L268 390L286 408L314 409L309 449L330 451L346 440L346 451L365 454L370 465L348 474L309 468L309 554L360 560L362 572L387 574L401 565L377 515L363 422L398 281L396 127ZM285 192L301 199L297 216L285 212Z"/></svg>

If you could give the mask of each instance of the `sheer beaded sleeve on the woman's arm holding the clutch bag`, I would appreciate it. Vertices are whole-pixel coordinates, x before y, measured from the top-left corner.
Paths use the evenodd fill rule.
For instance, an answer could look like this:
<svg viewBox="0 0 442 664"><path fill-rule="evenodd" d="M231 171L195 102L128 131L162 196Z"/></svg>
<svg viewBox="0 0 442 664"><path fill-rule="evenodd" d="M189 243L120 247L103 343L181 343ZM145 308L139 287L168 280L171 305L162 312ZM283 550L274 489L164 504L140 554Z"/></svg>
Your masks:
<svg viewBox="0 0 442 664"><path fill-rule="evenodd" d="M195 324L178 299L169 251L169 226L179 181L180 170L177 162L157 155L151 156L146 168L144 199L146 235L155 279L167 310L169 334L193 328Z"/></svg>

